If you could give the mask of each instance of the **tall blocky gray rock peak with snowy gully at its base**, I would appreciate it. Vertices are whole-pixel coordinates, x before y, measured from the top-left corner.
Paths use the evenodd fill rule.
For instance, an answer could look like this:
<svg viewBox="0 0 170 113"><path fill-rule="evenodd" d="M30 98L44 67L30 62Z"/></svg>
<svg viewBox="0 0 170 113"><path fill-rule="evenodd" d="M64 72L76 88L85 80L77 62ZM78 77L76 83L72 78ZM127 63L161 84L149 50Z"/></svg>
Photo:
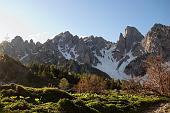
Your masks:
<svg viewBox="0 0 170 113"><path fill-rule="evenodd" d="M126 74L132 74L128 72L129 68L126 69L126 66L135 60L136 57L143 55L144 49L141 45L143 38L144 36L135 27L127 26L124 35L120 33L116 51L113 55L118 61L117 70L120 70L121 66L125 65L122 71Z"/></svg>

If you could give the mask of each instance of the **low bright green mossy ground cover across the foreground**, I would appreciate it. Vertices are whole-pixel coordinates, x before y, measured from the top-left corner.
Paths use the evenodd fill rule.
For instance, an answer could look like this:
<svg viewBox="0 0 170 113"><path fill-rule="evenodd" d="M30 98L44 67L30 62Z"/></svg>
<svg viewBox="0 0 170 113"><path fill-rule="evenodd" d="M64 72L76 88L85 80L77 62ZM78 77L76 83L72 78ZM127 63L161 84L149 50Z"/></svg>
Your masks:
<svg viewBox="0 0 170 113"><path fill-rule="evenodd" d="M71 94L57 88L0 86L0 112L4 113L140 113L166 100L114 91Z"/></svg>

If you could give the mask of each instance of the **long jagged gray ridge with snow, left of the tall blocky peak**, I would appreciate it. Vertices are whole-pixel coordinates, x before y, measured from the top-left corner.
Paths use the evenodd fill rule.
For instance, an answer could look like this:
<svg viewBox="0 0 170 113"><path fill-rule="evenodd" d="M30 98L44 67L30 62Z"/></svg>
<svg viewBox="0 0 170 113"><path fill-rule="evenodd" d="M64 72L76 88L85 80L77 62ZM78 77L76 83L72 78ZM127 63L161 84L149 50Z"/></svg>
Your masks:
<svg viewBox="0 0 170 113"><path fill-rule="evenodd" d="M134 36L138 33L130 30L127 31L126 38L128 37L128 40L130 40L131 36L134 38L132 43L137 43L136 40L138 41L138 39L135 40ZM123 61L130 58L127 56L126 60L122 59L126 54L124 53L126 38L121 34L118 43L115 44L102 37L79 38L66 31L56 35L51 40L47 40L44 44L39 42L35 44L33 40L23 41L21 37L17 36L11 42L0 44L0 50L24 64L30 62L62 64L65 60L74 60L106 73L105 70L111 70L111 73L107 74L113 74L114 71L112 70L118 69L117 64L121 67ZM119 61L121 63L118 63ZM115 63L117 64L115 65Z"/></svg>

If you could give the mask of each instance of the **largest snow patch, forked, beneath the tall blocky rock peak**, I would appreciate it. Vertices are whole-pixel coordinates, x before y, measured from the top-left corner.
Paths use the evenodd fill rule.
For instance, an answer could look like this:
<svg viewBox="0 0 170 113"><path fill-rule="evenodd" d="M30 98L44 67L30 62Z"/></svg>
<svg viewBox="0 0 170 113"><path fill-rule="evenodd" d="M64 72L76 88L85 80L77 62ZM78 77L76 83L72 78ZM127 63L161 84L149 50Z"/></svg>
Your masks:
<svg viewBox="0 0 170 113"><path fill-rule="evenodd" d="M114 51L114 48L110 49L102 49L100 52L102 53L102 56L97 56L95 54L95 57L100 61L100 63L97 64L97 66L94 66L94 68L97 68L108 75L110 75L112 78L115 79L129 79L130 76L126 75L124 73L125 67L136 57L132 55L132 52L128 52L127 55L130 57L126 62L123 62L119 69L116 69L119 62L116 61L116 59L113 59L112 51Z"/></svg>

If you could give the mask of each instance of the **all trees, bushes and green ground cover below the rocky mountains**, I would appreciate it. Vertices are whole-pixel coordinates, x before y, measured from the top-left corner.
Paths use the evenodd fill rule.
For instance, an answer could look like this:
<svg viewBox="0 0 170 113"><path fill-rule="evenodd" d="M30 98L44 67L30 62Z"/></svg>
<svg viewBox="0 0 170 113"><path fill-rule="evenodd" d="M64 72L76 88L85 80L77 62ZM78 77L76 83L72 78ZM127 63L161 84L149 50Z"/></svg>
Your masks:
<svg viewBox="0 0 170 113"><path fill-rule="evenodd" d="M10 60L2 61L8 64ZM6 63L1 63L0 69L5 68L2 81L22 85L0 85L0 113L140 113L149 106L169 101L169 71L162 71L161 63L158 63L161 70L151 63L157 71L148 70L150 79L145 82L76 73L68 69L77 69L73 65L18 64L10 68L16 72L9 73L11 70L7 69L12 63ZM20 69L25 70L21 73L17 71Z"/></svg>

